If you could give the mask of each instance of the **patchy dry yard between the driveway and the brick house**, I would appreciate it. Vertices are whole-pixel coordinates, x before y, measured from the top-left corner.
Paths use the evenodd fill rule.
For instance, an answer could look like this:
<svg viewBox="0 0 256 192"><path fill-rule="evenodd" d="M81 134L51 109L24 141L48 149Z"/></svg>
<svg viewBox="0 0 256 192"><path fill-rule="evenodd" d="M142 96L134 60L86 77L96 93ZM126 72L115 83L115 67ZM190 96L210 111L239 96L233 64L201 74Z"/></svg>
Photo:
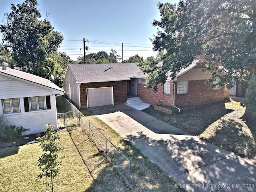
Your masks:
<svg viewBox="0 0 256 192"><path fill-rule="evenodd" d="M154 110L144 112L163 120L189 134L256 163L256 128L240 118L245 108L232 99L169 115Z"/></svg>

